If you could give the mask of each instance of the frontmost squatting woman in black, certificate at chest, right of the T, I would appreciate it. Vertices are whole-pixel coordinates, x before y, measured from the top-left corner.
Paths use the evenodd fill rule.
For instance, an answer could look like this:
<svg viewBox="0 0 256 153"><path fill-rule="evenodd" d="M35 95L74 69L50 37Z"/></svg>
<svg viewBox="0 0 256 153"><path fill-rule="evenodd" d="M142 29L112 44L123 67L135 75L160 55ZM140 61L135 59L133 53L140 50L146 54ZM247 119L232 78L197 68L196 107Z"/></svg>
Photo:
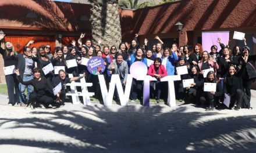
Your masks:
<svg viewBox="0 0 256 153"><path fill-rule="evenodd" d="M213 111L214 100L218 99L218 97L221 97L223 94L221 83L218 82L218 80L216 79L216 75L214 71L208 72L207 78L205 78L204 83L216 83L216 91L204 92L200 97L200 102L202 104L204 104L206 101L209 101L209 107L205 111Z"/></svg>

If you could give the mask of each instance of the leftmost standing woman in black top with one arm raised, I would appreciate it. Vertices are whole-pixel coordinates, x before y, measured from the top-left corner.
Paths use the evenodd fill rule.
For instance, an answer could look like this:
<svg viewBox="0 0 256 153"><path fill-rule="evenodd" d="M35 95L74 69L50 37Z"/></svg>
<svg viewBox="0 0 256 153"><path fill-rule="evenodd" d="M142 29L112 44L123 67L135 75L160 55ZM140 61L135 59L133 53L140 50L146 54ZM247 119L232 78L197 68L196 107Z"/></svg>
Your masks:
<svg viewBox="0 0 256 153"><path fill-rule="evenodd" d="M0 34L0 41L5 37L5 34ZM0 53L3 56L4 67L9 67L12 65L17 66L17 61L15 60L15 49L11 42L2 42ZM9 105L15 105L19 103L19 82L16 79L15 74L5 75L5 81L8 90ZM15 93L14 93L15 91Z"/></svg>

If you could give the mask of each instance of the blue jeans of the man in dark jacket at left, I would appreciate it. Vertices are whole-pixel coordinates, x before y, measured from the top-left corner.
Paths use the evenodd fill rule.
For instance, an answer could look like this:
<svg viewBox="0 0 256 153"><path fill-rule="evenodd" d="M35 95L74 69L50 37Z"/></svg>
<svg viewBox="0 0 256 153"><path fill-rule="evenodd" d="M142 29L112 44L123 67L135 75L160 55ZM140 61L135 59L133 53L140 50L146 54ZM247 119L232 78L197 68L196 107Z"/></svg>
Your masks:
<svg viewBox="0 0 256 153"><path fill-rule="evenodd" d="M33 75L23 75L23 81L30 81L31 79L34 79ZM27 96L25 96L25 89L27 88ZM32 85L22 85L22 83L19 83L19 89L20 89L20 103L27 103L29 102L29 96L33 92L34 88ZM27 99L26 99L27 97Z"/></svg>

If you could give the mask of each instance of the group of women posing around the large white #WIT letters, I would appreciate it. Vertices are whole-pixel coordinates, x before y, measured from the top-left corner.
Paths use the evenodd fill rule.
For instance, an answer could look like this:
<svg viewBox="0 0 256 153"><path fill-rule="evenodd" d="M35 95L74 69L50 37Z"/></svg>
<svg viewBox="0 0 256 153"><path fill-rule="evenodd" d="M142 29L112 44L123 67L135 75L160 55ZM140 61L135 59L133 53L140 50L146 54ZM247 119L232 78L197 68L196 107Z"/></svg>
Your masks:
<svg viewBox="0 0 256 153"><path fill-rule="evenodd" d="M0 39L4 37L4 34L0 34ZM158 43L148 46L148 40L145 39L144 45L140 46L137 42L137 37L128 43L120 43L119 48L116 46L109 47L108 45L92 45L90 39L86 39L85 44L81 42L84 38L84 34L81 34L78 43L72 41L72 46L56 47L54 54L51 54L51 46L40 46L39 48L30 48L33 41L30 41L24 48L24 58L31 58L34 61L33 76L34 79L30 81L24 81L20 77L19 70L15 74L6 75L6 83L8 85L9 104L14 105L19 102L18 97L13 97L13 88L15 88L16 94L19 94L17 83L20 82L23 85L32 85L34 92L30 94L30 99L27 103L34 104L34 101L44 104L45 106L62 104L65 101L65 84L71 81L76 81L84 76L86 82L93 82L93 87L89 88L90 92L95 93L95 97L101 99L101 91L99 90L98 77L90 74L87 70L87 65L81 64L82 57L91 59L94 56L104 59L106 67L108 65L117 64L118 60L116 55L122 57L123 61L126 61L128 67L136 61L141 61L145 65L152 62L152 65L148 65L148 75L155 77L157 81L152 81L150 84L151 98L157 99L159 103L160 99L167 99L168 85L166 82L161 82L161 78L167 75L180 75L177 70L178 67L186 66L188 73L180 75L181 81L176 81L176 97L180 101L187 102L188 100L194 101L195 104L208 104L206 111L214 110L216 104L219 101L225 99L224 95L230 96L230 108L239 110L241 108L244 96L249 97L250 101L250 89L251 83L255 81L255 60L256 56L250 55L250 49L246 46L244 39L244 47L241 49L239 46L235 46L231 51L228 46L221 43L221 39L218 39L221 49L218 52L218 47L213 45L211 52L204 51L202 46L198 43L193 49L189 46L178 46L173 43L170 48L164 47L165 44L159 37L155 37ZM104 46L101 48L101 45ZM17 65L19 60L15 60L15 50L11 42L5 42L1 45L0 49L3 55L5 67L10 65ZM26 53L27 52L27 53ZM25 57L26 56L26 57ZM77 67L67 67L67 60L76 60ZM116 63L113 63L116 62ZM65 71L61 70L58 75L54 75L54 72L48 72L44 74L42 68L49 63L53 66L64 66ZM120 61L119 61L120 65ZM205 71L209 70L211 71ZM25 70L26 71L26 70ZM66 73L73 74L74 78L66 78ZM207 74L204 74L207 72ZM83 74L83 75L81 75ZM112 70L106 68L101 71L104 75L106 84L111 80ZM81 77L79 77L81 75ZM183 87L184 79L194 79L194 83L186 88ZM52 89L54 86L62 84L62 90L53 96ZM216 90L211 92L204 92L204 83L216 83ZM49 89L47 91L47 89ZM136 99L141 100L143 97L143 81L137 81L133 79L131 86L131 101ZM226 93L226 94L224 94ZM45 98L47 96L47 98ZM44 100L42 100L44 99ZM56 99L56 100L55 100ZM46 101L46 102L45 102ZM25 103L24 101L20 101Z"/></svg>

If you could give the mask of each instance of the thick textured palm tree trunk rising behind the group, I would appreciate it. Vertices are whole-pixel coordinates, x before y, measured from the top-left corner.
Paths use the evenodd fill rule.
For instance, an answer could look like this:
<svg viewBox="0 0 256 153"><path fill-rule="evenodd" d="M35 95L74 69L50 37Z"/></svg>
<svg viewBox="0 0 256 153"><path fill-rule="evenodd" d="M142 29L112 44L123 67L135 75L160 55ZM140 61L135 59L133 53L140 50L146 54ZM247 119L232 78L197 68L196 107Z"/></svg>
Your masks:
<svg viewBox="0 0 256 153"><path fill-rule="evenodd" d="M101 39L102 45L119 46L122 37L118 0L89 0L89 2L93 42Z"/></svg>

